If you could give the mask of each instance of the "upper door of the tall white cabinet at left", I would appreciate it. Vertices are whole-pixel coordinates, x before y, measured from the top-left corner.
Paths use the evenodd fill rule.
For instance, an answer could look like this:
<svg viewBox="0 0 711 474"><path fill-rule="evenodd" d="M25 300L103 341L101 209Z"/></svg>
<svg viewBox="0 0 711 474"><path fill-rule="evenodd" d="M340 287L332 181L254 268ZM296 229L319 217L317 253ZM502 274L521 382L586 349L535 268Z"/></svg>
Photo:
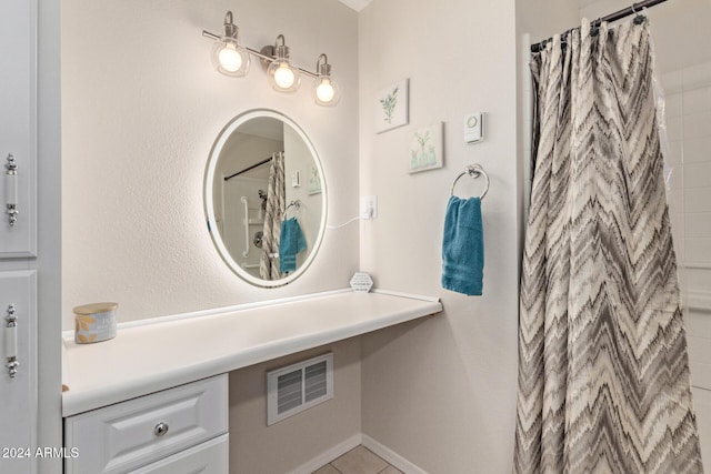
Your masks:
<svg viewBox="0 0 711 474"><path fill-rule="evenodd" d="M0 258L32 258L37 256L36 1L0 2Z"/></svg>

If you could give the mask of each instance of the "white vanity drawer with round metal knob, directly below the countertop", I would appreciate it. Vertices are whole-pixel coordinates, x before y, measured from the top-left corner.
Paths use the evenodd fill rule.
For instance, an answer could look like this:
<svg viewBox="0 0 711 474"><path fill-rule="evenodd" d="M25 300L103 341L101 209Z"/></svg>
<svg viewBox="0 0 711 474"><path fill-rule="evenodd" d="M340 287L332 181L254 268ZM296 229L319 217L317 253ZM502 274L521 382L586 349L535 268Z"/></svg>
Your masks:
<svg viewBox="0 0 711 474"><path fill-rule="evenodd" d="M227 433L227 374L64 420L68 474L126 473Z"/></svg>

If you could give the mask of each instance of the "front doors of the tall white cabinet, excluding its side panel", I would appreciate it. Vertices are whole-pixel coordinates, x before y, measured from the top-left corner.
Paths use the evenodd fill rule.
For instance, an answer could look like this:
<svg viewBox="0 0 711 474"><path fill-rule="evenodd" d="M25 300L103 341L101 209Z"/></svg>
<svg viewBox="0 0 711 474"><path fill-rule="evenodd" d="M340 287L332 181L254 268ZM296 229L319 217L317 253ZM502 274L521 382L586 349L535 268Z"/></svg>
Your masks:
<svg viewBox="0 0 711 474"><path fill-rule="evenodd" d="M0 471L13 473L37 472L36 9L0 3Z"/></svg>

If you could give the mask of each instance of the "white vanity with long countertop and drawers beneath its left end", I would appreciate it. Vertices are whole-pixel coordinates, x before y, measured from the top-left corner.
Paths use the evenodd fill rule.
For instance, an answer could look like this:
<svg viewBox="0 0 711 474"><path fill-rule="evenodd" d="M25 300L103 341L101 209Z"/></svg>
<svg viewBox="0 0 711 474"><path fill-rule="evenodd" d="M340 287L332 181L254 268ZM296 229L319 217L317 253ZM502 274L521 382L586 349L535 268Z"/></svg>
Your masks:
<svg viewBox="0 0 711 474"><path fill-rule="evenodd" d="M97 344L66 337L66 473L226 473L230 371L441 311L343 290L124 325Z"/></svg>

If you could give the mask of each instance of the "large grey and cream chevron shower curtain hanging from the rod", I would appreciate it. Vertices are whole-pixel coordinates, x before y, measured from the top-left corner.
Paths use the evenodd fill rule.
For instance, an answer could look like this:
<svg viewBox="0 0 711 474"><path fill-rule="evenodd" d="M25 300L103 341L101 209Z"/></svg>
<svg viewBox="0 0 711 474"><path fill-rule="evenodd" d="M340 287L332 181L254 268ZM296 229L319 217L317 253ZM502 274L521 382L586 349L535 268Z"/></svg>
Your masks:
<svg viewBox="0 0 711 474"><path fill-rule="evenodd" d="M517 473L701 473L649 28L532 58Z"/></svg>

